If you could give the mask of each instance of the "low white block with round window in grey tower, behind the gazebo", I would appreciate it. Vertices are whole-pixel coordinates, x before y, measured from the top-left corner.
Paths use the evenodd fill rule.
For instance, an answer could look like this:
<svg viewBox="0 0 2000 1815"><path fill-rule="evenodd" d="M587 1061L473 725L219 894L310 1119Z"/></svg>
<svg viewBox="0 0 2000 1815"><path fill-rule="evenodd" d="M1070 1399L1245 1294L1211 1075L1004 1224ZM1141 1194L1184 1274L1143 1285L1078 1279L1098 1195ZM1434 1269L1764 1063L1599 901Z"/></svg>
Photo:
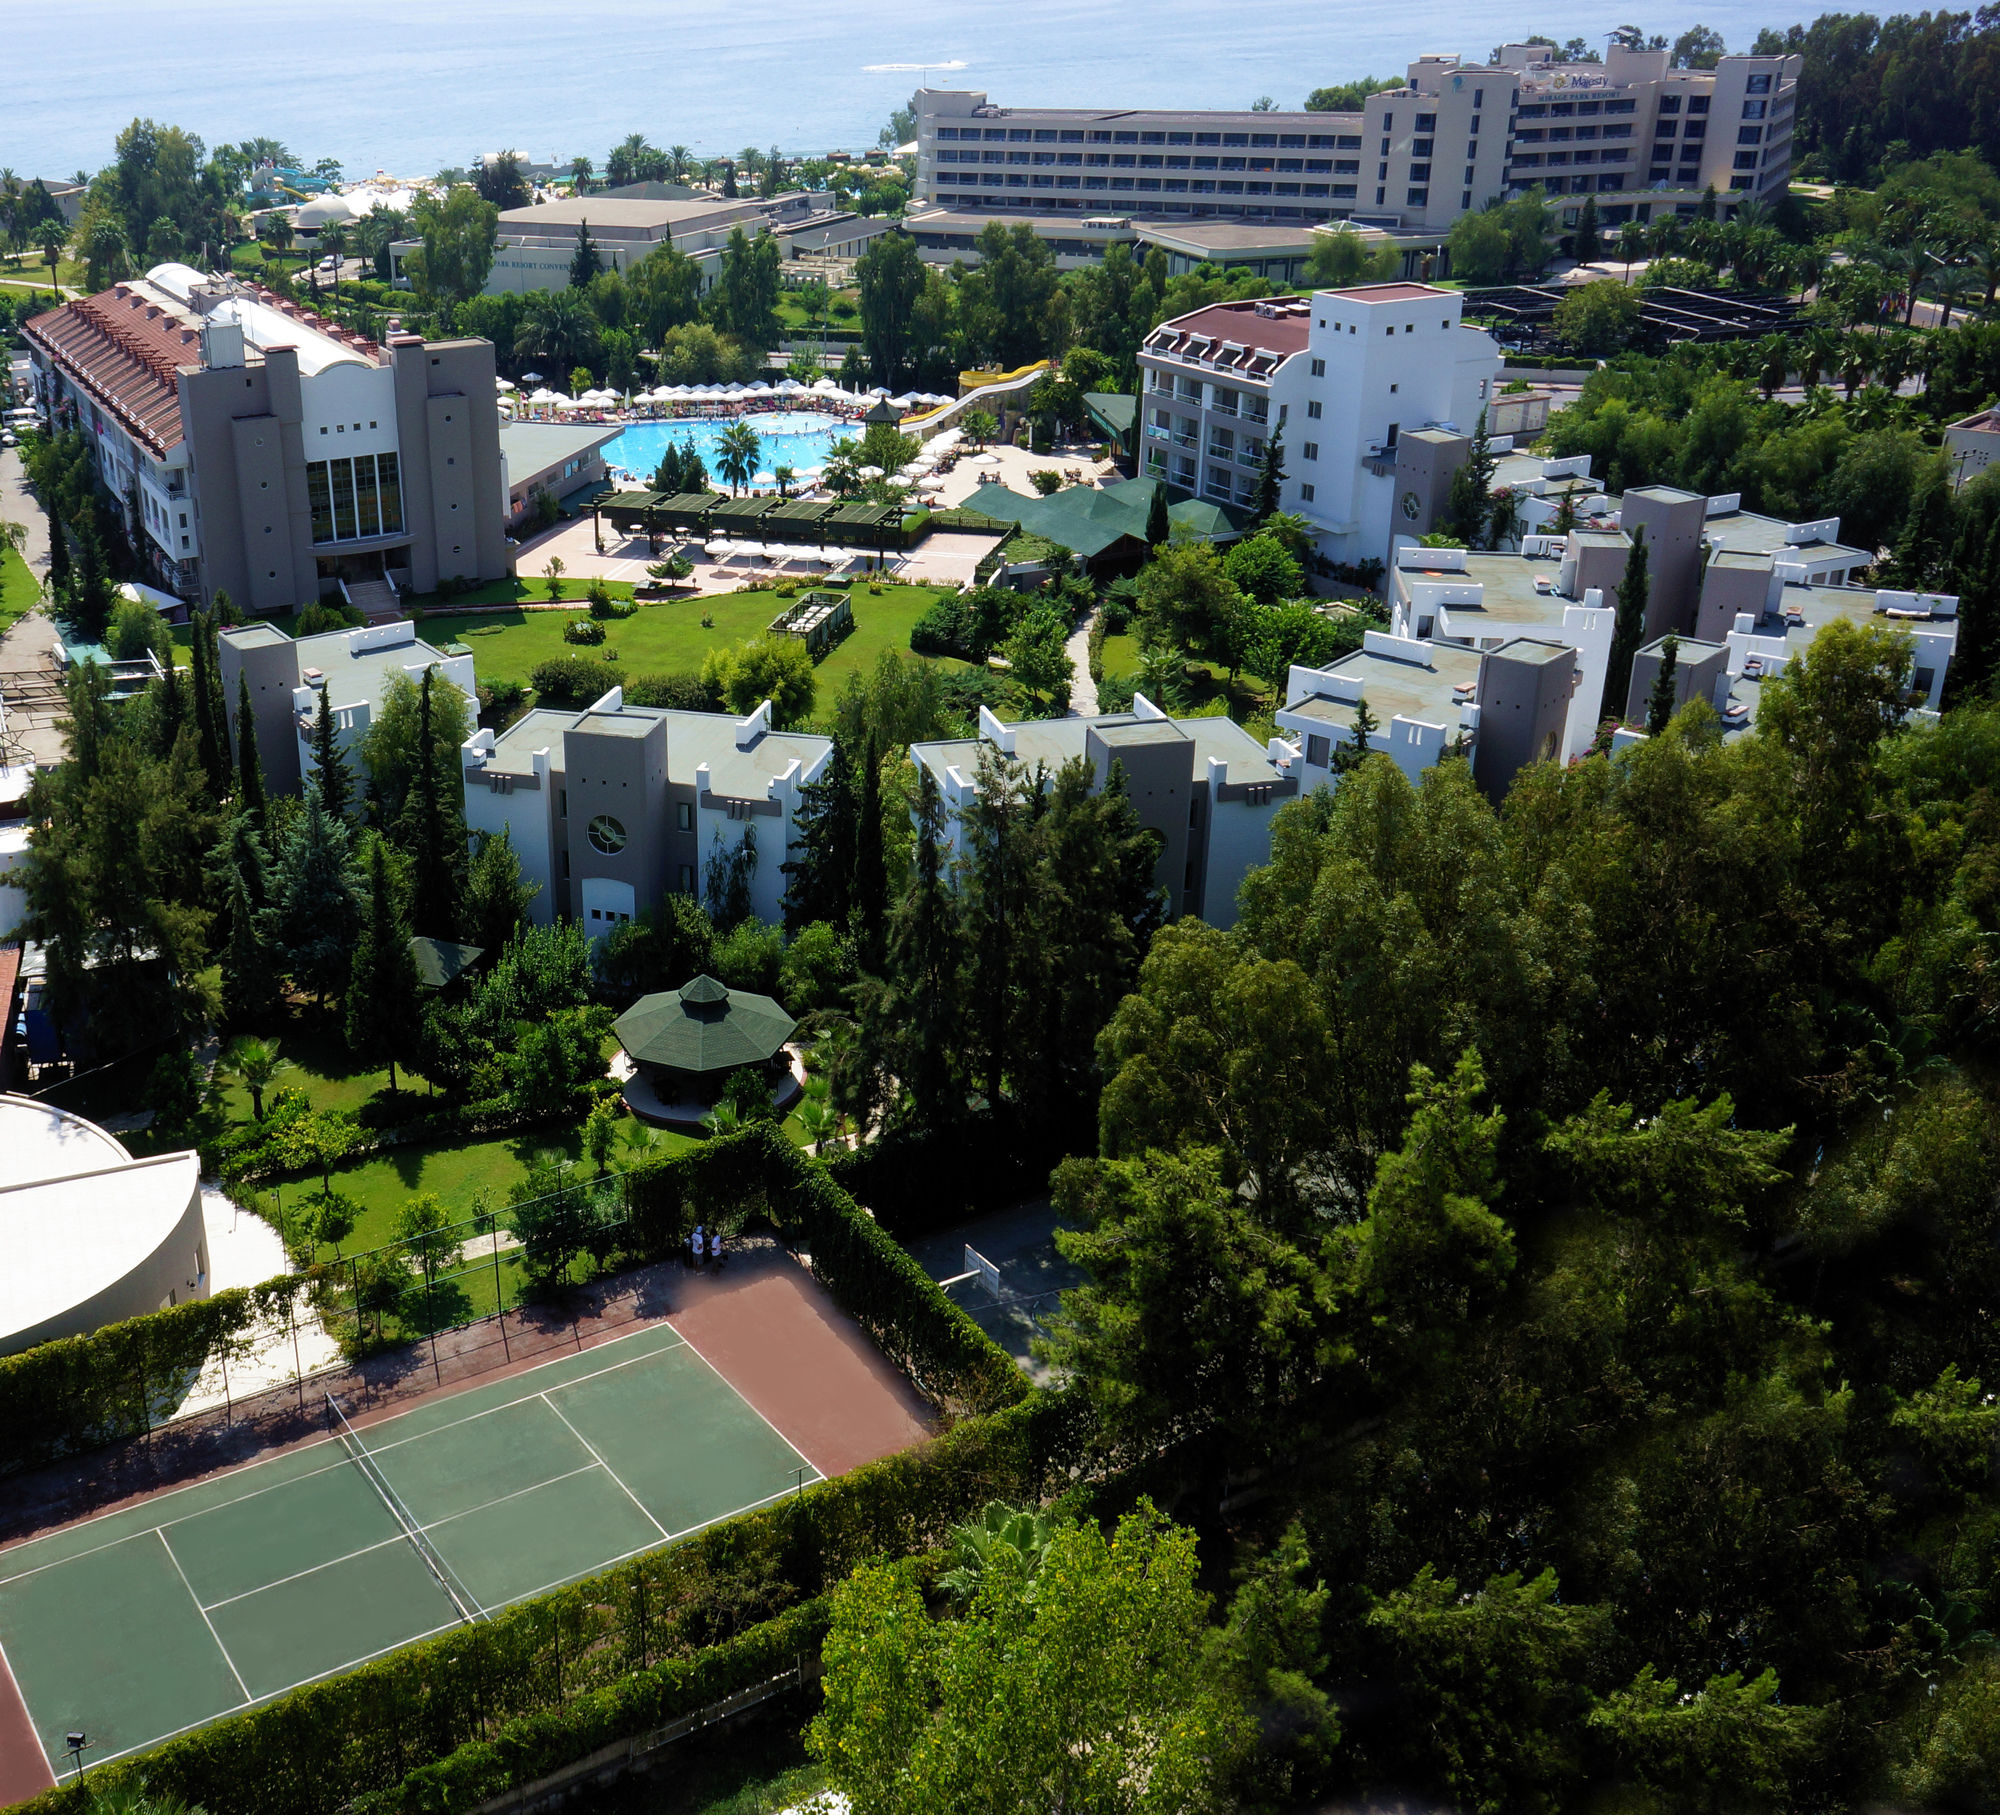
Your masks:
<svg viewBox="0 0 2000 1815"><path fill-rule="evenodd" d="M800 790L832 750L772 730L770 702L728 718L626 706L612 688L584 712L544 706L468 738L466 832L512 836L540 925L572 917L598 939L668 894L708 900L726 872L776 923Z"/></svg>

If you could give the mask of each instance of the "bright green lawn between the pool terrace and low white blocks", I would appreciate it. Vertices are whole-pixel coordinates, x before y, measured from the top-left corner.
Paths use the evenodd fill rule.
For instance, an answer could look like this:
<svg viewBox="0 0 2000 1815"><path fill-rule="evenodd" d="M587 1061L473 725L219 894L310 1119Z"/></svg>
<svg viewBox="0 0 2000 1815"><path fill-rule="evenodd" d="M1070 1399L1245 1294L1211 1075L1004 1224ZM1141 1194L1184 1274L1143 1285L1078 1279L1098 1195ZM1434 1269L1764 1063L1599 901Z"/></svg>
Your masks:
<svg viewBox="0 0 2000 1815"><path fill-rule="evenodd" d="M874 668L882 650L910 654L910 628L930 610L938 594L926 586L884 586L876 598L866 586L854 588L854 634L820 662L820 712L846 686L850 674ZM718 644L740 644L762 636L786 600L774 592L732 592L706 598L640 606L632 618L606 624L598 654L616 652L606 664L606 686L626 676L678 674L698 670ZM706 628L702 618L712 618ZM564 612L488 612L480 616L428 612L424 636L446 644L464 640L472 650L480 680L526 684L538 662L550 656L588 656L562 640ZM946 658L948 660L948 658ZM950 662L964 668L962 662Z"/></svg>

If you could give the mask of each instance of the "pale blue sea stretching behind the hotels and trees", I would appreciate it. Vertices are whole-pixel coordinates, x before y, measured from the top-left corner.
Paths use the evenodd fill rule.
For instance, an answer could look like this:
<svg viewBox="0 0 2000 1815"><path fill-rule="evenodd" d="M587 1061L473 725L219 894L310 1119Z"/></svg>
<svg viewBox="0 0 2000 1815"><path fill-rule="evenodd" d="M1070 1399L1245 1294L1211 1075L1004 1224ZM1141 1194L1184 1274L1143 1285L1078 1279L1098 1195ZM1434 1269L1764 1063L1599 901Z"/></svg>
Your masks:
<svg viewBox="0 0 2000 1815"><path fill-rule="evenodd" d="M602 168L632 132L702 158L814 156L874 146L924 84L1016 106L1298 108L1424 52L1568 38L1572 18L1544 0L0 0L0 166L98 170L134 118L276 138L348 178L508 148ZM1702 22L1748 50L1794 18L1722 0L1634 24Z"/></svg>

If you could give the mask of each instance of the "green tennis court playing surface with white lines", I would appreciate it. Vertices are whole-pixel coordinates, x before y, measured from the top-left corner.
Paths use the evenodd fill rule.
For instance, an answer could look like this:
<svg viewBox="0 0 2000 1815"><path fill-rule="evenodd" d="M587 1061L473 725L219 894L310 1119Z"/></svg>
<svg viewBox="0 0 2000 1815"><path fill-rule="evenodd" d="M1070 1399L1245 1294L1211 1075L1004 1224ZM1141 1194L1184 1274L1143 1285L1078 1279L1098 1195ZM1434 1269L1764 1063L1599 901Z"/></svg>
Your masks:
<svg viewBox="0 0 2000 1815"><path fill-rule="evenodd" d="M50 1759L72 1729L92 1763L156 1745L458 1625L454 1595L476 1617L818 1479L664 1325L356 1439L368 1465L330 1435L0 1551Z"/></svg>

